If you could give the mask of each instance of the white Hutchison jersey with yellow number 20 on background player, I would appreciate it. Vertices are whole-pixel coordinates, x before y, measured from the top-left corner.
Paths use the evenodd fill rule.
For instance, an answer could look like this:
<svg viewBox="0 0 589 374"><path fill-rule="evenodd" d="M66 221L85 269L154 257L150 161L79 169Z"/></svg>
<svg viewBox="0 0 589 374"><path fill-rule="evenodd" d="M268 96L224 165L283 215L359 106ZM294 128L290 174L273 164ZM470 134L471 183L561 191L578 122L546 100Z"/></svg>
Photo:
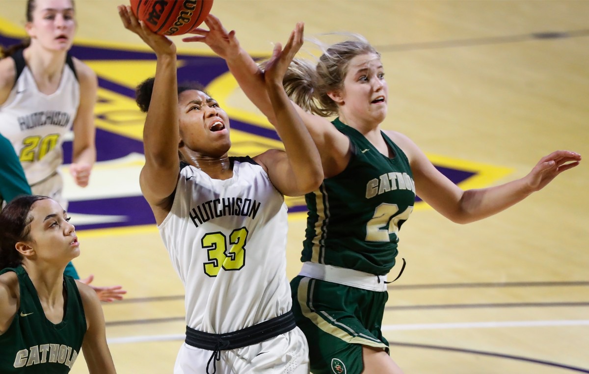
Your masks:
<svg viewBox="0 0 589 374"><path fill-rule="evenodd" d="M45 95L37 89L22 49L12 58L18 78L8 99L0 105L0 134L11 141L33 186L55 174L63 163L61 144L80 105L80 84L68 56L57 91Z"/></svg>

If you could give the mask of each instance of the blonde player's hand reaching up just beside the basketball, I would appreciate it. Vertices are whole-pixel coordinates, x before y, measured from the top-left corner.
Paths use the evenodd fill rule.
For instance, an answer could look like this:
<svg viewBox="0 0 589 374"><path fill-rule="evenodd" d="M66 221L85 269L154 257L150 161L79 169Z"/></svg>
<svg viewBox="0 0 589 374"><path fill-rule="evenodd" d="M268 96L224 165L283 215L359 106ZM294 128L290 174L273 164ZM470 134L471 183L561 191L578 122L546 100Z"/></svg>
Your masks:
<svg viewBox="0 0 589 374"><path fill-rule="evenodd" d="M194 37L183 38L184 42L203 42L208 45L213 52L223 59L231 59L239 54L239 41L235 37L235 30L227 32L216 16L209 14L204 23L209 29L195 28L190 34L196 34Z"/></svg>

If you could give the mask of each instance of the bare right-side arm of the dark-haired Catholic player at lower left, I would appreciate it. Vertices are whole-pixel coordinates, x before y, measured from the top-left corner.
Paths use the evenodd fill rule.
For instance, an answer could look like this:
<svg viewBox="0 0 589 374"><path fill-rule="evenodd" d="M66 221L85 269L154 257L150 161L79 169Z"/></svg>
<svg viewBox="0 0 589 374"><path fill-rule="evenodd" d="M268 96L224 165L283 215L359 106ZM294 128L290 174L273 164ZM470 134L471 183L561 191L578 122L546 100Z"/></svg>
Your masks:
<svg viewBox="0 0 589 374"><path fill-rule="evenodd" d="M84 283L77 282L87 330L82 341L84 359L90 374L112 374L116 370L107 345L107 335L104 324L104 313L97 294Z"/></svg>

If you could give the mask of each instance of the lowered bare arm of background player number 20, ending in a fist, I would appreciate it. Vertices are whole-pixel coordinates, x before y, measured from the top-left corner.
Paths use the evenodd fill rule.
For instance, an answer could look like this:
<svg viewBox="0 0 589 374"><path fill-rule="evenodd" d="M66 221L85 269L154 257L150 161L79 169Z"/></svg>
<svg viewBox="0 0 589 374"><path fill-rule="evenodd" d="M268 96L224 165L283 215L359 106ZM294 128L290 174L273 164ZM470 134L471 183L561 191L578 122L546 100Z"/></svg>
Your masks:
<svg viewBox="0 0 589 374"><path fill-rule="evenodd" d="M70 174L80 187L88 186L90 172L96 161L96 128L94 127L94 104L98 91L98 78L90 67L74 59L80 80L80 107L74 118L74 141Z"/></svg>

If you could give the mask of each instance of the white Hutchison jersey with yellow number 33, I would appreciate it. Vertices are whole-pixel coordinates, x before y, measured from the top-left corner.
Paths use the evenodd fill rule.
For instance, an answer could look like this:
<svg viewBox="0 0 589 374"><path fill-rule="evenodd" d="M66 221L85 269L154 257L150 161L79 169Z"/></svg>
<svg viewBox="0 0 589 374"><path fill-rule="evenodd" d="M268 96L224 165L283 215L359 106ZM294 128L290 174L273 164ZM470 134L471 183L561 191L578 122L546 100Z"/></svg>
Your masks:
<svg viewBox="0 0 589 374"><path fill-rule="evenodd" d="M170 213L158 227L186 289L186 324L217 334L292 306L284 197L252 158L231 161L227 180L183 167Z"/></svg>

